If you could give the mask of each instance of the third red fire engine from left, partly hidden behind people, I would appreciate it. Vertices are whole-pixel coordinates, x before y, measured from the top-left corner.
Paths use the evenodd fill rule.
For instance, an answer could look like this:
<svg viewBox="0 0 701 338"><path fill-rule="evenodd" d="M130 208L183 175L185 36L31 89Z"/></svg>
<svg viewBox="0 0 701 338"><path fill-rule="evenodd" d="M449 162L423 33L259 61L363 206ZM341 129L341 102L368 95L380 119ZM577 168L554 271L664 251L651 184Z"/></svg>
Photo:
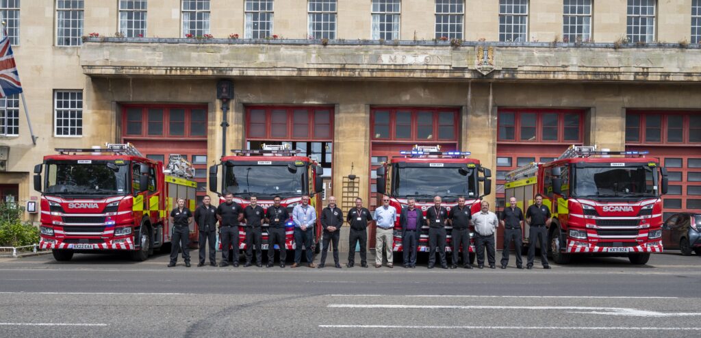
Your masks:
<svg viewBox="0 0 701 338"><path fill-rule="evenodd" d="M441 196L443 205L450 210L458 205L458 197L465 197L472 213L479 212L482 198L491 192L491 170L479 164L479 160L468 158L470 152L440 151L440 147L414 146L411 151L400 151L377 169L377 205L382 205L382 196L389 196L390 205L399 214L407 207L407 200L414 198L416 208L426 210L433 204L434 196ZM482 176L479 175L482 173ZM480 182L483 182L480 191ZM480 194L482 192L482 194ZM451 251L451 227L447 229L446 251ZM470 238L474 234L470 233ZM428 252L428 227L421 229L416 245L419 252ZM393 250L402 251L402 227L399 218L395 221ZM470 244L470 264L475 260L475 246Z"/></svg>

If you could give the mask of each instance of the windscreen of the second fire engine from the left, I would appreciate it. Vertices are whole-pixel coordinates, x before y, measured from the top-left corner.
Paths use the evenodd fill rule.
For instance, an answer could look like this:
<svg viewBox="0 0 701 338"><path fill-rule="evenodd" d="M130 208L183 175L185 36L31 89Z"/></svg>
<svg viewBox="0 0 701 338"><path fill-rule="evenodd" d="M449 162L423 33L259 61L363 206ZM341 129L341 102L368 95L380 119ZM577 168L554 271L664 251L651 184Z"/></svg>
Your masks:
<svg viewBox="0 0 701 338"><path fill-rule="evenodd" d="M305 189L306 167L294 167L294 164L288 165L286 162L273 163L275 164L225 166L225 191L234 196L308 194L308 189Z"/></svg>

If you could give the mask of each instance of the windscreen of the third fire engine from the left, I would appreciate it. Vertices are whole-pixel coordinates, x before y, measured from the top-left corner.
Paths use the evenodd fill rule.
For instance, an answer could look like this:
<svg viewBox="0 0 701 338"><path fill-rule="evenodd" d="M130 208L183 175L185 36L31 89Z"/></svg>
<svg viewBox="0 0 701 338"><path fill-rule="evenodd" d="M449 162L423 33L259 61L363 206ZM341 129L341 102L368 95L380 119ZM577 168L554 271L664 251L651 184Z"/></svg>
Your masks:
<svg viewBox="0 0 701 338"><path fill-rule="evenodd" d="M394 195L404 197L442 196L457 198L458 196L477 196L477 170L460 168L427 168L405 167L397 168L394 177ZM467 175L463 175L463 174Z"/></svg>

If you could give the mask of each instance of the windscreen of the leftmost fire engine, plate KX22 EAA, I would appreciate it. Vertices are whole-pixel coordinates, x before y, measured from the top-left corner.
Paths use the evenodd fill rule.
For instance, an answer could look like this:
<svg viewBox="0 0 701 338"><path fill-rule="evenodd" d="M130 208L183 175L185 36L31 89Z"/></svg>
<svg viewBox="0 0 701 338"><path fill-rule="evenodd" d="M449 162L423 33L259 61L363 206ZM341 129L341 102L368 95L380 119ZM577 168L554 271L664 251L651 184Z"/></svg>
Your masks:
<svg viewBox="0 0 701 338"><path fill-rule="evenodd" d="M85 160L83 160L85 161ZM86 161L88 162L88 161ZM129 165L114 161L48 161L45 194L124 195L128 187Z"/></svg>

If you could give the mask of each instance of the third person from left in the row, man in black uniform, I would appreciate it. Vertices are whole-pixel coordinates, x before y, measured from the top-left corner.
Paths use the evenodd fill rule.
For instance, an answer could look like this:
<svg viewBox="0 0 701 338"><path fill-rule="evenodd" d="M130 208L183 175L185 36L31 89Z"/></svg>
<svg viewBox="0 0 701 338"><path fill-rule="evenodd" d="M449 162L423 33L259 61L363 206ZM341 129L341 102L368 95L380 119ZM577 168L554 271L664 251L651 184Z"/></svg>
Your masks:
<svg viewBox="0 0 701 338"><path fill-rule="evenodd" d="M241 205L233 201L233 194L226 193L226 202L217 207L217 218L222 221L219 228L219 241L222 242L222 262L229 265L229 247L233 247L233 266L238 266L238 224L243 219Z"/></svg>

